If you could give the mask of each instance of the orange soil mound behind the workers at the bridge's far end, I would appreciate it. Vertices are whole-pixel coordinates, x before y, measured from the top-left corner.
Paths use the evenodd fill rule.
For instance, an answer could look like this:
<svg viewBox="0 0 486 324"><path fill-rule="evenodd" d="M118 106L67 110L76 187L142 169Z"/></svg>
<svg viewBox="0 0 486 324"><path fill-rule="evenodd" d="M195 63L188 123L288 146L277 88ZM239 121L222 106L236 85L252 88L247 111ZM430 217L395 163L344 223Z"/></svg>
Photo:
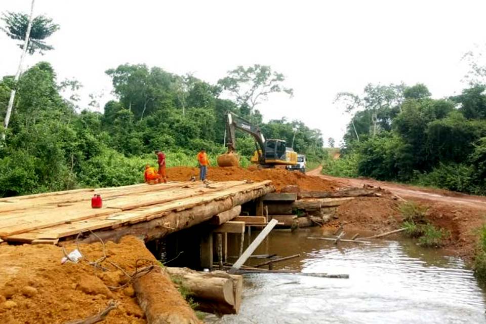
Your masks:
<svg viewBox="0 0 486 324"><path fill-rule="evenodd" d="M189 181L191 176L198 177L197 168L174 167L167 169L167 175L171 181ZM287 185L297 185L302 191L334 191L338 184L332 180L320 177L308 176L300 172L291 172L285 169L244 169L238 167L219 168L210 167L208 180L230 181L230 180L271 180L278 191Z"/></svg>

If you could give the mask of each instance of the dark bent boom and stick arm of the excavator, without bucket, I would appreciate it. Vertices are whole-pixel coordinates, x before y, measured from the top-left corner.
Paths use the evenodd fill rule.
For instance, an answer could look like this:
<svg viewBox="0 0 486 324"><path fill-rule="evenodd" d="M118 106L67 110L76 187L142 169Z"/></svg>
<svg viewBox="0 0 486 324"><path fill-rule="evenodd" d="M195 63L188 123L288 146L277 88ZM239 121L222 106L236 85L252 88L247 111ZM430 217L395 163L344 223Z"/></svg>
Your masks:
<svg viewBox="0 0 486 324"><path fill-rule="evenodd" d="M228 142L226 145L228 146L228 153L234 152L236 150L236 130L240 130L253 136L257 143L257 152L259 155L259 159L261 161L264 161L265 137L263 136L260 128L230 111L226 113L226 131L228 133Z"/></svg>

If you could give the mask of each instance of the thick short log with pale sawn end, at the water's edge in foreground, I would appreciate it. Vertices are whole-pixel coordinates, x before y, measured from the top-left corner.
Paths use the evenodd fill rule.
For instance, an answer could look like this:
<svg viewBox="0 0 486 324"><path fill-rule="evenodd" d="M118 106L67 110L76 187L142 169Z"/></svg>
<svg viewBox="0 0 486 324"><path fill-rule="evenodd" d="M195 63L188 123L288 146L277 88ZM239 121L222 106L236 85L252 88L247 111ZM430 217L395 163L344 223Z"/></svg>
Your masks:
<svg viewBox="0 0 486 324"><path fill-rule="evenodd" d="M188 268L166 267L198 303L198 310L215 314L236 314L241 306L243 278L224 271L198 272Z"/></svg>

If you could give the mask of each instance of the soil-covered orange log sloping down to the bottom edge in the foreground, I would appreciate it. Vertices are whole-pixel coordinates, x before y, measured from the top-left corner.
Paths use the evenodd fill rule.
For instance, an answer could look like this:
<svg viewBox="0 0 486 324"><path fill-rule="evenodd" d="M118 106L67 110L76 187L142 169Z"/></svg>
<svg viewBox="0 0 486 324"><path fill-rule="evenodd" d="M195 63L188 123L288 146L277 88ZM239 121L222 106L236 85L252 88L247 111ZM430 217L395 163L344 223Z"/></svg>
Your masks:
<svg viewBox="0 0 486 324"><path fill-rule="evenodd" d="M149 273L136 278L133 289L148 324L201 323L161 268L155 267ZM170 308L166 305L168 300L171 303Z"/></svg>

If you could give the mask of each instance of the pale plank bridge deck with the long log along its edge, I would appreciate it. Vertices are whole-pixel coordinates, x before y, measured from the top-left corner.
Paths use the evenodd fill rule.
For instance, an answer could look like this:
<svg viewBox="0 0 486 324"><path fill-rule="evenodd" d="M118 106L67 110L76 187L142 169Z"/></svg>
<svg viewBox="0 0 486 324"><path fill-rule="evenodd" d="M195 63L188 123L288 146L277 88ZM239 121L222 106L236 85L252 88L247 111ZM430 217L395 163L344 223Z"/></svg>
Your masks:
<svg viewBox="0 0 486 324"><path fill-rule="evenodd" d="M0 238L56 244L91 230L151 239L209 220L273 190L271 181L171 182L2 198ZM95 193L101 194L103 208L91 208Z"/></svg>

